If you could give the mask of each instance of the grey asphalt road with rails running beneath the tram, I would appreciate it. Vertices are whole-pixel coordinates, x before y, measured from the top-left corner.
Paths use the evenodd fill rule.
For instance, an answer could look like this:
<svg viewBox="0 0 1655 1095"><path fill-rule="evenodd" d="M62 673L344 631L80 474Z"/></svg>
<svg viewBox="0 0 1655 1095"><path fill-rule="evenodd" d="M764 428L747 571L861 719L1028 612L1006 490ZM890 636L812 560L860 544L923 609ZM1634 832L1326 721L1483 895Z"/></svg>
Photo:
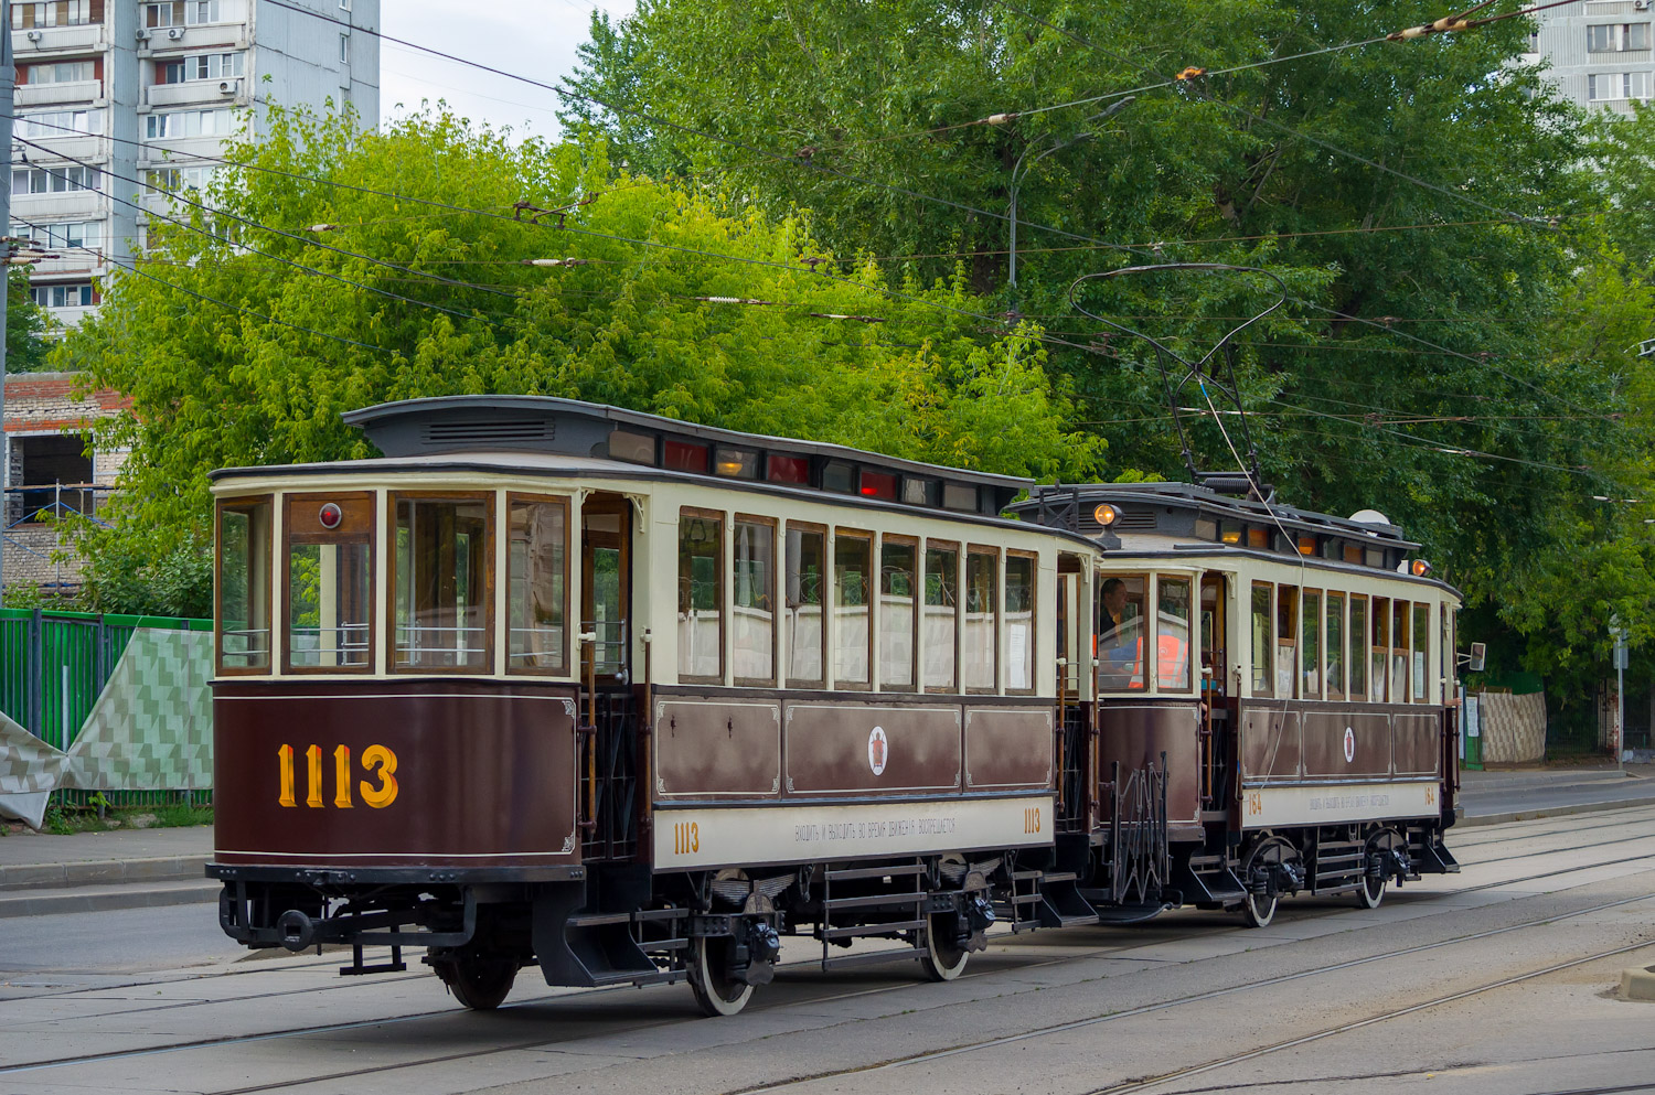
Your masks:
<svg viewBox="0 0 1655 1095"><path fill-rule="evenodd" d="M1655 807L1450 844L1463 873L1374 911L1003 938L950 984L798 961L717 1021L684 986L533 971L470 1014L417 958L338 978L334 954L238 956L210 906L23 918L0 925L0 1095L1655 1090L1655 1004L1610 992L1655 964Z"/></svg>

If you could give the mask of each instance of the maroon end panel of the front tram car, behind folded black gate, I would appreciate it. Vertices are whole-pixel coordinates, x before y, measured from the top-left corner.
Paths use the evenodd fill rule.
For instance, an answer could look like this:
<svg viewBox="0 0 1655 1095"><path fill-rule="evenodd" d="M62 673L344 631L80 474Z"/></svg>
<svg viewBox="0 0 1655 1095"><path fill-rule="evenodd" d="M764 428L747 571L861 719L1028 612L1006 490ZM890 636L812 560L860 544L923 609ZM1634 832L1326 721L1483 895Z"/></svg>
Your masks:
<svg viewBox="0 0 1655 1095"><path fill-rule="evenodd" d="M1122 777L1154 764L1167 772L1167 835L1172 840L1200 839L1200 736L1195 700L1115 701L1106 700L1101 713L1097 777L1109 782L1119 761ZM1162 754L1165 753L1165 759ZM1109 796L1104 794L1107 802Z"/></svg>

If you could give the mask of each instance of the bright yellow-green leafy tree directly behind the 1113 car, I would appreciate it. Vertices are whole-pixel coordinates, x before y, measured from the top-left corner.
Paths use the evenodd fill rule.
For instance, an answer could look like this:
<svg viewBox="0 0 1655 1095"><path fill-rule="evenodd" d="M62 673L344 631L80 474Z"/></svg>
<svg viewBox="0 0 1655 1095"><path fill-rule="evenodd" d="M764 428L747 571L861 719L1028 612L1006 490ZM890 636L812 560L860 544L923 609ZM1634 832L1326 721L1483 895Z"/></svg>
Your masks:
<svg viewBox="0 0 1655 1095"><path fill-rule="evenodd" d="M101 607L131 607L159 576L147 561L205 582L187 561L210 541L209 471L366 457L339 414L392 399L549 394L1041 478L1096 471L1102 443L1069 427L1046 347L985 334L963 273L813 273L803 260L831 251L803 215L449 114L376 134L273 111L232 159L247 167L215 180L210 212L157 225L63 349L132 400L104 437L131 448L114 528L83 531ZM546 260L568 261L528 265Z"/></svg>

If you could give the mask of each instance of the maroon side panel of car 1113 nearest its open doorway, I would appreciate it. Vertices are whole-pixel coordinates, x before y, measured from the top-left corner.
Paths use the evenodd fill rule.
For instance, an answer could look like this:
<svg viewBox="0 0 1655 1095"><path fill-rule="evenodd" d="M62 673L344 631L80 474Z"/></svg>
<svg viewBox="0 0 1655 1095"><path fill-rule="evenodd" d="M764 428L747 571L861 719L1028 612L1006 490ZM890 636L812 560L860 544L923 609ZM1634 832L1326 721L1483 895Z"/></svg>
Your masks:
<svg viewBox="0 0 1655 1095"><path fill-rule="evenodd" d="M655 701L657 799L781 792L781 700Z"/></svg>

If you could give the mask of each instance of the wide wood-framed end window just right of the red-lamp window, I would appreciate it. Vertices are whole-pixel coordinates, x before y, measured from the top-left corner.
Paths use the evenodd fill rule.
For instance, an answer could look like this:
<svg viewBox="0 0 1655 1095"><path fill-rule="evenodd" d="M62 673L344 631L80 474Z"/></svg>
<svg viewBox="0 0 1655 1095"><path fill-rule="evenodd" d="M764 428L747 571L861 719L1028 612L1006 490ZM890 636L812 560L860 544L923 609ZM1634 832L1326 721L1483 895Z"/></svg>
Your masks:
<svg viewBox="0 0 1655 1095"><path fill-rule="evenodd" d="M392 495L392 668L490 668L490 500Z"/></svg>

